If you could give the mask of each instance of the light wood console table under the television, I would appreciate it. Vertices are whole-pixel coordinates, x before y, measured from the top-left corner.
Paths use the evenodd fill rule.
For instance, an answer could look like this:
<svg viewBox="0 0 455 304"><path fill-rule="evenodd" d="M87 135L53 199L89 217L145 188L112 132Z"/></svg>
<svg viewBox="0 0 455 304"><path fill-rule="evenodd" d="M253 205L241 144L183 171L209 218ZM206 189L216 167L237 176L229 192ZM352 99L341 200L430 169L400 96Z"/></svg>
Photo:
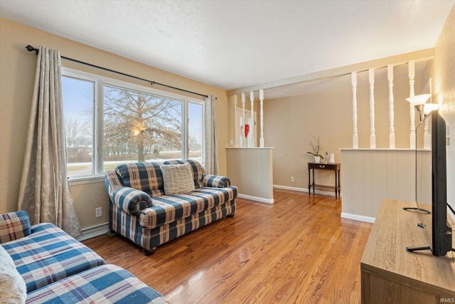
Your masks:
<svg viewBox="0 0 455 304"><path fill-rule="evenodd" d="M362 303L455 302L455 252L438 257L431 251L406 251L428 244L417 226L419 214L402 209L415 205L382 200L360 261Z"/></svg>

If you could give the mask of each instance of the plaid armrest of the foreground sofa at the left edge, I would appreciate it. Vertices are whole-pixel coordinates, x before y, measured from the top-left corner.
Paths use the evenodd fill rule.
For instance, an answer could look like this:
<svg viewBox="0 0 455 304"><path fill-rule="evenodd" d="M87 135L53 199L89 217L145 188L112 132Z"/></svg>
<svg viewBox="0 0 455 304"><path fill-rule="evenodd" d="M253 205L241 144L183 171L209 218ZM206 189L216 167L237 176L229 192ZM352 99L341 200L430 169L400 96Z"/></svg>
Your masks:
<svg viewBox="0 0 455 304"><path fill-rule="evenodd" d="M30 219L26 211L0 215L0 243L21 239L30 234Z"/></svg>

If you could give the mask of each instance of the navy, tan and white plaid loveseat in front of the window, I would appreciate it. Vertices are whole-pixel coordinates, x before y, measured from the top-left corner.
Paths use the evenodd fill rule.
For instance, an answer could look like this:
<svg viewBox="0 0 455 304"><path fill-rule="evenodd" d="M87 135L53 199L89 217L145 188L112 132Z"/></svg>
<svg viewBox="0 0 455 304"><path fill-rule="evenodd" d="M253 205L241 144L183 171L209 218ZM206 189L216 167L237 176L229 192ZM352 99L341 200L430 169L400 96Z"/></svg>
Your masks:
<svg viewBox="0 0 455 304"><path fill-rule="evenodd" d="M190 164L194 189L166 194L161 166ZM227 216L236 209L237 187L228 177L206 174L199 162L128 163L105 173L109 228L141 246L144 254Z"/></svg>

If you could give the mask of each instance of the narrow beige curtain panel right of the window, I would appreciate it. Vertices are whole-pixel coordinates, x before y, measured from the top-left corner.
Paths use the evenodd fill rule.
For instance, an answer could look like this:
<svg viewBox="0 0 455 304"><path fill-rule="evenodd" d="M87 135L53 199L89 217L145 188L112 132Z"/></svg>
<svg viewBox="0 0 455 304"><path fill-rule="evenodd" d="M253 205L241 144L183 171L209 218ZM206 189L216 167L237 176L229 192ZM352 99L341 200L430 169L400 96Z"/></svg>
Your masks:
<svg viewBox="0 0 455 304"><path fill-rule="evenodd" d="M208 174L218 174L218 147L216 145L216 98L205 98L204 113L204 167Z"/></svg>

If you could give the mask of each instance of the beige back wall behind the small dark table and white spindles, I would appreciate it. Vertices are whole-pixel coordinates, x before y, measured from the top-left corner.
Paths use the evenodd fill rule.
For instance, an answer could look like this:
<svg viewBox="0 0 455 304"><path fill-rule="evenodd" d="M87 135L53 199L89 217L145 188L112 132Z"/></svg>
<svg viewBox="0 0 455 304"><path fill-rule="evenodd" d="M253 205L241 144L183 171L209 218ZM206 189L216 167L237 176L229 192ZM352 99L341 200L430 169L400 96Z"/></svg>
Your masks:
<svg viewBox="0 0 455 304"><path fill-rule="evenodd" d="M362 72L362 73L368 73ZM382 78L377 75L382 75ZM353 93L350 75L342 76L345 85L319 93L264 101L265 144L274 147L274 184L308 188L308 165L313 157L310 135L320 137L321 154L335 154L341 162L340 148L353 147ZM397 148L410 147L409 78L394 79L395 137ZM358 73L358 79L361 79ZM370 88L368 77L357 85L359 147L370 147ZM420 92L419 75L414 91ZM375 135L376 147L389 147L389 114L387 73L375 73ZM343 164L341 165L343 170ZM318 174L317 172L316 174ZM291 182L294 177L295 182ZM333 173L323 172L316 183L334 184ZM341 181L343 192L343 181Z"/></svg>

